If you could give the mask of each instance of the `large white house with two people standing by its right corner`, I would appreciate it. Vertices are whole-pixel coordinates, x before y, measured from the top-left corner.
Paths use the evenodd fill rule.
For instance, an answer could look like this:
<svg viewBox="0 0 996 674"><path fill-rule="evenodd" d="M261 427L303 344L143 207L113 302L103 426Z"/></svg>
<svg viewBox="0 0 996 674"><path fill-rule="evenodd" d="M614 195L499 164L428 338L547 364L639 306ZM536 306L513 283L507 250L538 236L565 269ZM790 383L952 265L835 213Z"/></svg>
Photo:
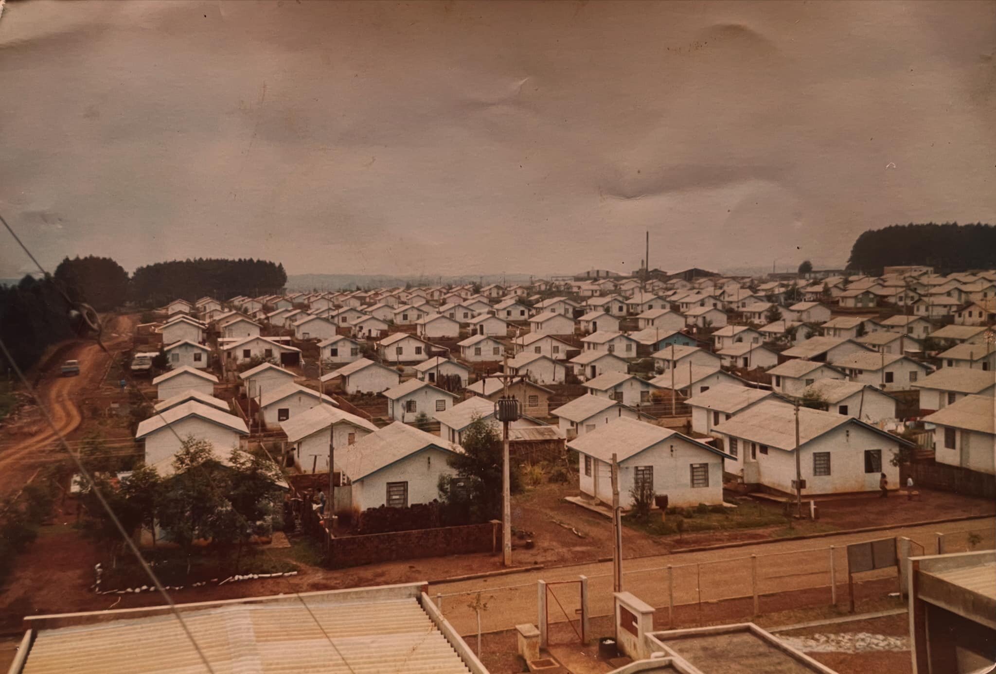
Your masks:
<svg viewBox="0 0 996 674"><path fill-rule="evenodd" d="M746 484L794 494L796 451L804 496L878 490L882 473L889 489L899 487L892 457L911 443L853 416L800 407L799 448L792 405L765 400L713 429L725 451L736 457L726 472Z"/></svg>

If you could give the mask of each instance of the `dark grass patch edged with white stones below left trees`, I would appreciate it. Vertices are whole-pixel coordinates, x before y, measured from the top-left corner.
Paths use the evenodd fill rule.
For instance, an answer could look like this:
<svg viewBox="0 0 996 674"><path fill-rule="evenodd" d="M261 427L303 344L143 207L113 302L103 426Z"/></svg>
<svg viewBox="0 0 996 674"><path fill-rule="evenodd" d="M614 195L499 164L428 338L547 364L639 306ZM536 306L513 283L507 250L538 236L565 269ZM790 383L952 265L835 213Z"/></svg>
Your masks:
<svg viewBox="0 0 996 674"><path fill-rule="evenodd" d="M194 553L190 556L190 570L187 571L187 558L177 549L159 549L143 551L143 557L149 562L155 575L164 585L190 585L194 582L221 580L234 573L280 573L298 570L297 564L286 559L275 559L265 553L247 549L242 553L238 570L234 568L234 556L225 561L219 561L216 555ZM151 581L137 562L127 557L120 557L114 568L105 564L101 589L125 589L149 585Z"/></svg>

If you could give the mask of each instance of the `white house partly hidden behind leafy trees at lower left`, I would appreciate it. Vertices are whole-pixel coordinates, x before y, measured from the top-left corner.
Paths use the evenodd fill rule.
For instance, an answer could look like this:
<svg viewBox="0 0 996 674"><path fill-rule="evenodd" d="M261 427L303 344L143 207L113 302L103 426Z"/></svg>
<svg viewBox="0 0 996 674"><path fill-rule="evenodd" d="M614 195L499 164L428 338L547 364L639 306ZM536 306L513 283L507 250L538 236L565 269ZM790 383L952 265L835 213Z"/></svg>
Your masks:
<svg viewBox="0 0 996 674"><path fill-rule="evenodd" d="M187 438L209 442L215 457L224 463L239 446L240 438L248 434L245 422L234 414L189 400L139 423L134 437L144 440L145 465L167 476L173 473L173 457Z"/></svg>

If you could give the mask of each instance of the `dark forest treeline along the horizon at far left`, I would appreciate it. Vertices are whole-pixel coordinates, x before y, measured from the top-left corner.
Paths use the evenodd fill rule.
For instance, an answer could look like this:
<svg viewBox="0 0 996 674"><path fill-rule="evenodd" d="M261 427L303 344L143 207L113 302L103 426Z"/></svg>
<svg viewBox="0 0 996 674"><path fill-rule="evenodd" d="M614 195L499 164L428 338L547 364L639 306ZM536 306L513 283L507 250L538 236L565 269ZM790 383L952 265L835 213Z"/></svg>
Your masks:
<svg viewBox="0 0 996 674"><path fill-rule="evenodd" d="M87 303L98 312L125 302L151 309L177 298L194 302L205 295L228 299L278 293L286 283L284 266L267 260L157 262L128 277L111 258L66 258L52 278L26 276L16 286L0 286L0 338L24 368L33 365L50 344L73 336L71 302ZM5 369L2 356L0 369Z"/></svg>

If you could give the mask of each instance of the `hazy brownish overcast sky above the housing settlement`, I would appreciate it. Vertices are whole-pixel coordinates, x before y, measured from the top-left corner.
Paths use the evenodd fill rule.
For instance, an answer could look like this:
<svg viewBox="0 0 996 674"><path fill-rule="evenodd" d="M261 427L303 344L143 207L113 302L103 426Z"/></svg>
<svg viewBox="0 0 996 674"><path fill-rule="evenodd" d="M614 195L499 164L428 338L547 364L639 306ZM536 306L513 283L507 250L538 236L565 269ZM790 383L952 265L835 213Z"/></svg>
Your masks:
<svg viewBox="0 0 996 674"><path fill-rule="evenodd" d="M996 222L994 46L982 2L10 2L0 211L51 267L842 265Z"/></svg>

